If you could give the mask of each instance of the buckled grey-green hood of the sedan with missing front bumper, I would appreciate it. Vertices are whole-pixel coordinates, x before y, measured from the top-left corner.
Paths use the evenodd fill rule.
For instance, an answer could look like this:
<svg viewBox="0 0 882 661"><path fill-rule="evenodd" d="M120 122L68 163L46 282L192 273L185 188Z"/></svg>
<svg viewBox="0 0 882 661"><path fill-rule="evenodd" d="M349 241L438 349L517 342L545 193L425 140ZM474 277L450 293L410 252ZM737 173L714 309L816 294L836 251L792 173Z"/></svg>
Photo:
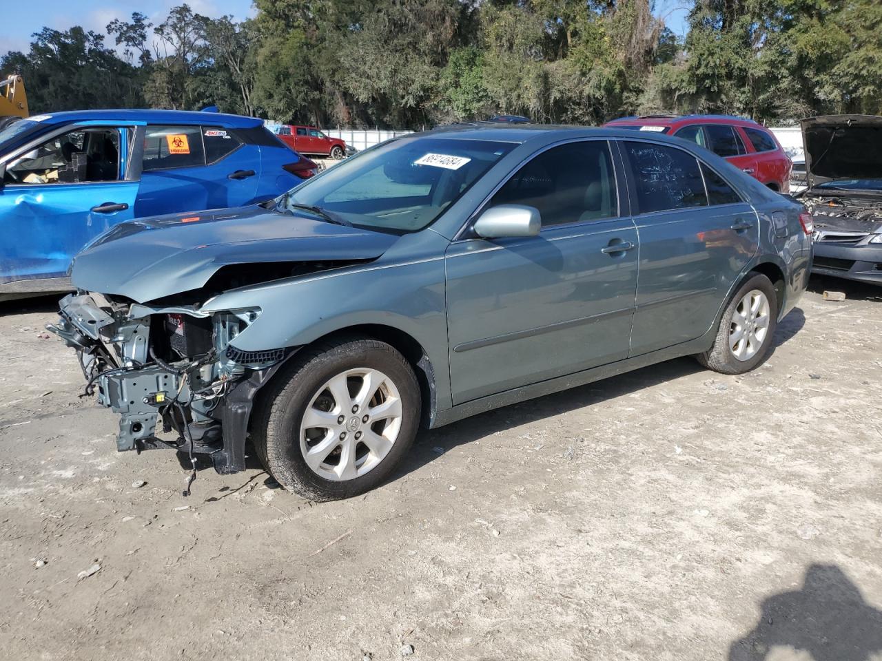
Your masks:
<svg viewBox="0 0 882 661"><path fill-rule="evenodd" d="M71 282L143 303L205 286L221 268L376 259L398 239L260 206L131 220L75 257ZM253 282L250 284L254 284Z"/></svg>

